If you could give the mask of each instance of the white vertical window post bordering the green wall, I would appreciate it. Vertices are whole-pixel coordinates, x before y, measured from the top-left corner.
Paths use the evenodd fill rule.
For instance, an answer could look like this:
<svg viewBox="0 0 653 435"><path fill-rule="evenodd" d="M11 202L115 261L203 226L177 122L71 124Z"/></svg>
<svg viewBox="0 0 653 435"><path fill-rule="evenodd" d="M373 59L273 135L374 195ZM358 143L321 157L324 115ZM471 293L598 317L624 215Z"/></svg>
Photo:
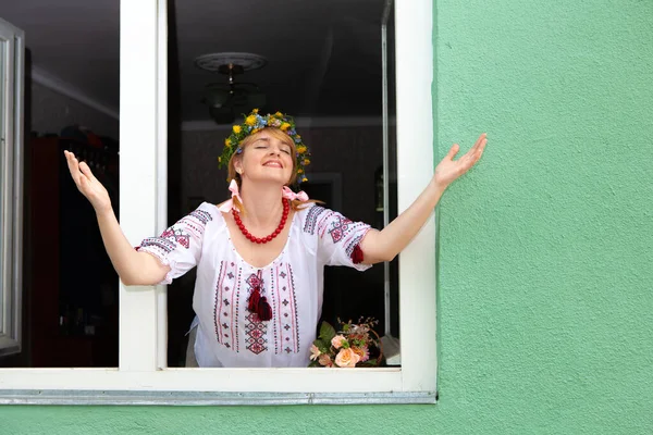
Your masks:
<svg viewBox="0 0 653 435"><path fill-rule="evenodd" d="M415 201L433 176L432 16L432 0L395 2L399 213ZM399 328L405 391L436 390L435 284L435 220L432 213L399 258Z"/></svg>

